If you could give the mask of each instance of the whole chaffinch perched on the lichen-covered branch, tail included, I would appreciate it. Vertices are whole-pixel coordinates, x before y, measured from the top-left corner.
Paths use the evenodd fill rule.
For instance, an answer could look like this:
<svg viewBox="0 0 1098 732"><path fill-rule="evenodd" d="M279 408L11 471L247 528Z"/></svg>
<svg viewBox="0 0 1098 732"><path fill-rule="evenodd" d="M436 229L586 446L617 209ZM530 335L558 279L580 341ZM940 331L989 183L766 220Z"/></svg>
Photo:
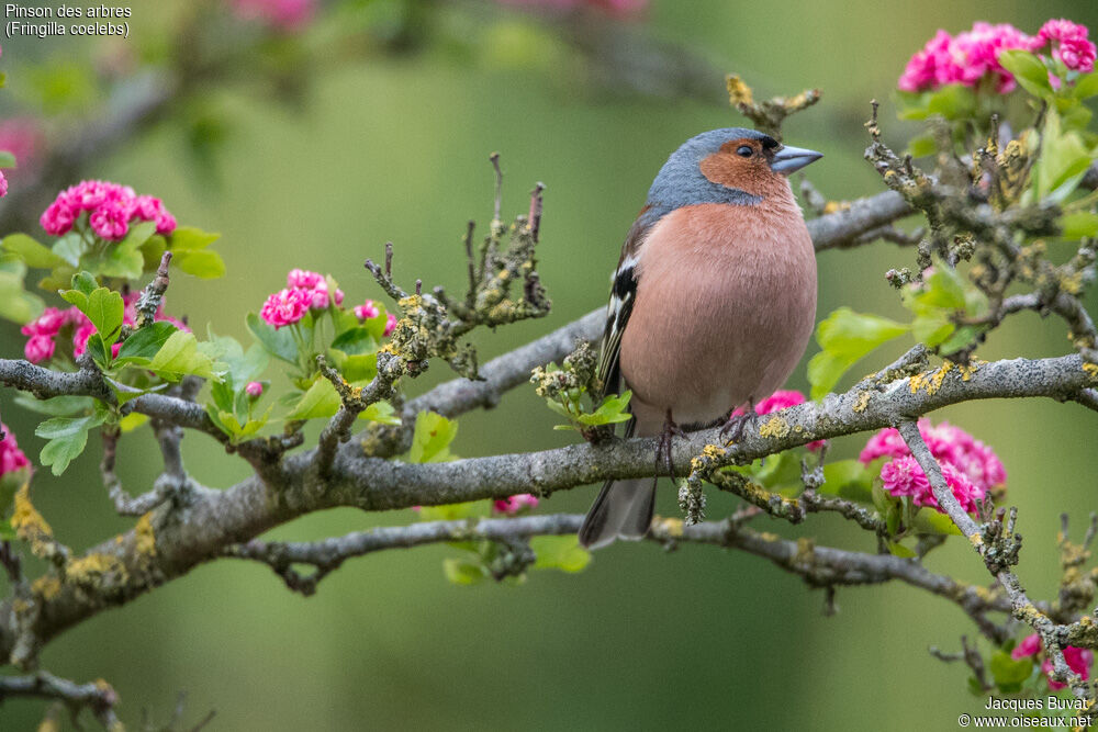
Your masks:
<svg viewBox="0 0 1098 732"><path fill-rule="evenodd" d="M626 437L659 436L672 477L673 437L724 424L739 439L805 352L816 255L787 177L821 157L744 127L702 133L668 158L626 236L597 396L632 392ZM643 538L657 481L607 481L581 545Z"/></svg>

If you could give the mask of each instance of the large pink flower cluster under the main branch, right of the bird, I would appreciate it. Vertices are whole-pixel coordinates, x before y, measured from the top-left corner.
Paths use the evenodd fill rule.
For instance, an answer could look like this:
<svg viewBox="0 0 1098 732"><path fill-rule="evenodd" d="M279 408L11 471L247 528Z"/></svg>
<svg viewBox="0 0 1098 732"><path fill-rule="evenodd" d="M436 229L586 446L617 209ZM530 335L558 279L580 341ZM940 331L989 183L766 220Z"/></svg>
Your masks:
<svg viewBox="0 0 1098 732"><path fill-rule="evenodd" d="M977 500L1006 483L1007 471L995 451L963 429L949 423L934 426L929 419L921 419L919 433L942 466L945 483L970 514L976 510ZM931 506L941 511L927 474L897 430L883 429L871 437L858 459L869 464L878 458L889 458L881 466L885 491L894 496L910 496L916 506Z"/></svg>

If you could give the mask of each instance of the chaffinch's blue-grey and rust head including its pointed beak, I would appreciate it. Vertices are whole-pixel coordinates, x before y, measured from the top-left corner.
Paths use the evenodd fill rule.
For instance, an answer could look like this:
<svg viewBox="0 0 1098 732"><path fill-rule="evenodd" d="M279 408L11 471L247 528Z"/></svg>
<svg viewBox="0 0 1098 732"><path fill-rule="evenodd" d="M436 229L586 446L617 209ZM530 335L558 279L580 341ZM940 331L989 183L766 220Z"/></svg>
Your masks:
<svg viewBox="0 0 1098 732"><path fill-rule="evenodd" d="M668 158L649 191L649 203L666 211L697 203L751 205L789 195L786 176L821 157L746 127L712 129Z"/></svg>

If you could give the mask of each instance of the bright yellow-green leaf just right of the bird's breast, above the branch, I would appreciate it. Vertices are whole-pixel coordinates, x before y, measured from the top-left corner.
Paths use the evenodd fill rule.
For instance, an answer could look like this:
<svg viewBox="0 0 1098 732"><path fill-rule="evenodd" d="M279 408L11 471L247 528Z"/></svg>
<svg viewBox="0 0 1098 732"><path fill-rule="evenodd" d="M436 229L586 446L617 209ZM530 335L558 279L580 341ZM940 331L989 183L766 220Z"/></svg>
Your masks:
<svg viewBox="0 0 1098 732"><path fill-rule="evenodd" d="M816 330L816 342L822 350L808 362L811 397L822 397L870 351L907 331L908 326L901 323L849 307L831 313Z"/></svg>

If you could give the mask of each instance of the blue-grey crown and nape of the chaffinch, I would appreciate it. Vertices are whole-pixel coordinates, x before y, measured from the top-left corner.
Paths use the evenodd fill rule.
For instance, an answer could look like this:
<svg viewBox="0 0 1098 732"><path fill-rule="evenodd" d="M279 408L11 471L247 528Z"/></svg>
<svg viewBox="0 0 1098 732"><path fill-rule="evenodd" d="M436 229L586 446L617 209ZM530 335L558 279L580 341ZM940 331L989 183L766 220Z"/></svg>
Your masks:
<svg viewBox="0 0 1098 732"><path fill-rule="evenodd" d="M730 139L760 139L770 137L755 129L747 127L725 127L710 129L691 137L677 150L671 154L668 161L660 168L660 173L648 190L648 211L645 212L646 223L656 223L675 209L698 203L736 203L754 205L762 201L738 188L729 188L714 183L702 174L698 166L702 160L720 149Z"/></svg>

